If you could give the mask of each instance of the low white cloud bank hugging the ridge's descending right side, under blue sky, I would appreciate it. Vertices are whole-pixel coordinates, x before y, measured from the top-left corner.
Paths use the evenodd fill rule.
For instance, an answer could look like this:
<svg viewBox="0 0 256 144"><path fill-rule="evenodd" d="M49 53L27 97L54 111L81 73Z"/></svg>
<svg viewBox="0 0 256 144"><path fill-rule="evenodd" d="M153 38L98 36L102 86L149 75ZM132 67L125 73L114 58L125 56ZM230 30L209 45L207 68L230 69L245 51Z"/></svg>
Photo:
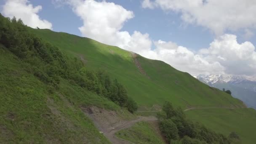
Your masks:
<svg viewBox="0 0 256 144"><path fill-rule="evenodd" d="M199 54L189 51L183 46L173 42L158 40L154 42L156 49L152 51L142 51L140 54L150 59L165 61L172 67L191 75L223 73L224 67L219 62L206 61Z"/></svg>

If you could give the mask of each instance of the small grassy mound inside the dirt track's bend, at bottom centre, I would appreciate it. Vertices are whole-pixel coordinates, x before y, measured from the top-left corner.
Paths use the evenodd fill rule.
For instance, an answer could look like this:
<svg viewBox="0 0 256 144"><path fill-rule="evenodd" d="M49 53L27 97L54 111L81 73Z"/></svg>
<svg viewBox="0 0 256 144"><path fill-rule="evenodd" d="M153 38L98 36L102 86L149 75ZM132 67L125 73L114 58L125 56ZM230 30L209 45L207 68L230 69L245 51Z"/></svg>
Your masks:
<svg viewBox="0 0 256 144"><path fill-rule="evenodd" d="M139 122L131 128L117 131L115 136L135 144L164 144L159 134L147 122Z"/></svg>

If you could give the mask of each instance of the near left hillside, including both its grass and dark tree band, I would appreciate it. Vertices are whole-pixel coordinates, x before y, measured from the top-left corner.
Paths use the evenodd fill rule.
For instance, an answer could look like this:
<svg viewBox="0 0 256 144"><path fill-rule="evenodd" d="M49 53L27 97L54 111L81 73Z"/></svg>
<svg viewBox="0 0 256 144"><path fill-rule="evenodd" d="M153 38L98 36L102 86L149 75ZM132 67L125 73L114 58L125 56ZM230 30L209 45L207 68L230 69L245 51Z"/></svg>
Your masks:
<svg viewBox="0 0 256 144"><path fill-rule="evenodd" d="M108 144L82 109L96 106L133 118L121 102L128 110L136 106L117 80L86 69L31 35L21 20L0 14L1 144Z"/></svg>

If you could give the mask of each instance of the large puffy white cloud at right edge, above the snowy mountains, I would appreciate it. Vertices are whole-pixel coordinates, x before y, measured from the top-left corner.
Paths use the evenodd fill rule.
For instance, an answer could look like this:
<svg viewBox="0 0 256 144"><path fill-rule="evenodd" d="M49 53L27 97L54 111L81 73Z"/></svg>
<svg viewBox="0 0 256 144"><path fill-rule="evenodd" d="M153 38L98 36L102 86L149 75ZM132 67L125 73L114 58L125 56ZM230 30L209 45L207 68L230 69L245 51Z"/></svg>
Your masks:
<svg viewBox="0 0 256 144"><path fill-rule="evenodd" d="M203 54L205 60L219 62L226 74L255 75L256 51L251 42L239 44L235 35L225 34L215 39L207 50Z"/></svg>

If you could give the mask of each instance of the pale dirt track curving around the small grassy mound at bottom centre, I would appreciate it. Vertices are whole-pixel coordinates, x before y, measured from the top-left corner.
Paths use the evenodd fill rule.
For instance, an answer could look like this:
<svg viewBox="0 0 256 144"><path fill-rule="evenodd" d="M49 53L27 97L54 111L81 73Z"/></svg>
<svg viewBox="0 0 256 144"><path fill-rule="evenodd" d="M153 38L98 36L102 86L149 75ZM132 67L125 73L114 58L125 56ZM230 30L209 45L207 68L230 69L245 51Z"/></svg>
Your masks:
<svg viewBox="0 0 256 144"><path fill-rule="evenodd" d="M125 128L130 128L133 124L141 122L141 121L147 122L147 121L155 121L155 120L157 120L157 118L153 117L153 116L149 116L149 117L142 117L142 116L140 116L136 120L128 121L128 122L126 122L126 123L124 123L122 125L116 125L111 130L104 131L103 134L104 134L104 136L107 137L107 139L109 139L109 141L112 142L112 144L132 144L130 141L126 141L124 139L117 138L115 136L115 132L123 130Z"/></svg>

